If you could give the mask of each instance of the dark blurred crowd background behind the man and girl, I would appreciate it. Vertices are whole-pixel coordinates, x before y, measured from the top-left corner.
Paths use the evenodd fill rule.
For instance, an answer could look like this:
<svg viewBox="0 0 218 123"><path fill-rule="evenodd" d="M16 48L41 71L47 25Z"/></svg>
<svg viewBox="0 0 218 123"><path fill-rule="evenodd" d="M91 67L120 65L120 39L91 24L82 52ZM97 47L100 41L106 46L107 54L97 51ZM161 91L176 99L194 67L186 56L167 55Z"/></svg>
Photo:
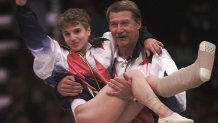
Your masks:
<svg viewBox="0 0 218 123"><path fill-rule="evenodd" d="M105 10L116 0L29 0L48 35L62 40L57 16L70 7L85 8L92 17L92 33L108 30ZM134 0L143 14L143 24L162 41L178 68L193 63L198 44L218 44L217 0ZM70 110L63 110L33 72L33 57L23 44L15 20L15 0L0 0L0 122L74 123ZM34 30L33 30L34 31ZM207 59L205 59L207 60ZM212 78L187 91L187 111L195 123L218 122L218 52Z"/></svg>

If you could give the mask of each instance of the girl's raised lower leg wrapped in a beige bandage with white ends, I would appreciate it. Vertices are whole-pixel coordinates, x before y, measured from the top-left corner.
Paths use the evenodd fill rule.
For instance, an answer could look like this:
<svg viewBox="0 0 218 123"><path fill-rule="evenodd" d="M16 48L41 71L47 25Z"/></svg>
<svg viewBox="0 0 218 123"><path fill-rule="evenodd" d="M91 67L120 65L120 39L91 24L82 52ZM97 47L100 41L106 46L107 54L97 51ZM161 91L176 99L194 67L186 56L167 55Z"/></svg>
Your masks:
<svg viewBox="0 0 218 123"><path fill-rule="evenodd" d="M195 63L161 79L150 76L147 81L152 89L163 97L170 97L190 88L198 87L211 77L215 50L214 44L203 41L200 43Z"/></svg>

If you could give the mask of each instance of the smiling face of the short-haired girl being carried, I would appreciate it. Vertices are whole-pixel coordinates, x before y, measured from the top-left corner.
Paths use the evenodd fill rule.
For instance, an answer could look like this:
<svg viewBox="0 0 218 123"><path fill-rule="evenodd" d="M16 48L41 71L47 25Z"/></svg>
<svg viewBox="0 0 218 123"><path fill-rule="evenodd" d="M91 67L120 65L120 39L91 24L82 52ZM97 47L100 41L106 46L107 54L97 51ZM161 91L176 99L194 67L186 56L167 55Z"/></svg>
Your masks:
<svg viewBox="0 0 218 123"><path fill-rule="evenodd" d="M68 25L62 30L64 40L71 50L83 54L86 51L90 33L90 28L86 29L80 23L76 26Z"/></svg>

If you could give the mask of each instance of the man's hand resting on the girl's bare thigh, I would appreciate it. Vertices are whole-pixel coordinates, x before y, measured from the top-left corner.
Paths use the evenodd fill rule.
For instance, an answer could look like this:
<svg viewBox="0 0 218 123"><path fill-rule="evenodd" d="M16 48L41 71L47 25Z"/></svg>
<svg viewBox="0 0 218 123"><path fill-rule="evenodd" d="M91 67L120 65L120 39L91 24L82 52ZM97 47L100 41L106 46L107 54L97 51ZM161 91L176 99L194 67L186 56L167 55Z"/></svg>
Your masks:
<svg viewBox="0 0 218 123"><path fill-rule="evenodd" d="M118 96L122 99L132 99L131 84L132 78L124 73L122 77L111 79L108 85L114 89L114 91L108 92L107 94Z"/></svg>

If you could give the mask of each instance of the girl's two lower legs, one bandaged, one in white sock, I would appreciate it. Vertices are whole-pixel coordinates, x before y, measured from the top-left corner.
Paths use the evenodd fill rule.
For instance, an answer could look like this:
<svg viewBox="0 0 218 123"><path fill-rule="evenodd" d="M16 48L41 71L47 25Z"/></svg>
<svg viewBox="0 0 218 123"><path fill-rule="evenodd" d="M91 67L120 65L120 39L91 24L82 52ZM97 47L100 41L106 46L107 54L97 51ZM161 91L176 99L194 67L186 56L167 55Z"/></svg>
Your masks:
<svg viewBox="0 0 218 123"><path fill-rule="evenodd" d="M175 72L173 75L168 77L164 77L163 79L157 78L148 78L149 85L158 92L159 95L168 95L172 96L179 92L185 91L191 87L197 87L204 83L205 81L210 79L213 61L214 61L214 52L215 45L209 42L202 42L200 44L200 50L198 53L198 59L196 62L178 72ZM208 61L204 61L204 60ZM193 123L192 120L181 117L176 113L172 113L170 109L168 109L157 96L153 93L151 88L147 85L146 81L143 80L144 76L142 73L137 71L128 71L126 73L129 77L132 77L132 93L134 97L142 104L153 110L156 114L162 117L159 120L160 122L184 122L184 123ZM194 76L194 77L193 77ZM150 81L154 80L154 81ZM158 81L157 81L158 80ZM177 83L174 81L178 81ZM181 81L181 82L180 82ZM168 82L168 83L167 83ZM186 84L188 83L188 84ZM120 121L128 118L128 114L126 112L131 112L134 109L131 109L134 106L128 106L125 109L125 113L121 115ZM140 110L140 108L139 108ZM167 112L167 113L166 113ZM127 114L127 115L125 115ZM168 117L165 117L167 114L171 114ZM165 116L164 116L165 115ZM165 118L164 118L165 117Z"/></svg>

